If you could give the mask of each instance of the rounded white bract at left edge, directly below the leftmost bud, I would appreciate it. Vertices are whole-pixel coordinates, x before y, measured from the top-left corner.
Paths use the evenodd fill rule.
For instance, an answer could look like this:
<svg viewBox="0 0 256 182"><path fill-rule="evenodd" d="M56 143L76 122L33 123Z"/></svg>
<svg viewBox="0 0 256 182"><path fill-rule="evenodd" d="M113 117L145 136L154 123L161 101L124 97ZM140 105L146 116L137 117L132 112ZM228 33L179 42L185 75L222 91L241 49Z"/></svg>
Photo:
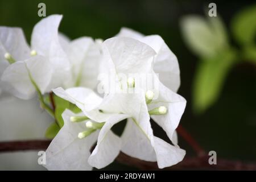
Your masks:
<svg viewBox="0 0 256 182"><path fill-rule="evenodd" d="M17 97L23 96L20 98L29 99L35 94L35 88L30 81L30 77L28 76L26 63L23 61L18 61L9 65L5 72L3 72L1 79L21 93Z"/></svg>

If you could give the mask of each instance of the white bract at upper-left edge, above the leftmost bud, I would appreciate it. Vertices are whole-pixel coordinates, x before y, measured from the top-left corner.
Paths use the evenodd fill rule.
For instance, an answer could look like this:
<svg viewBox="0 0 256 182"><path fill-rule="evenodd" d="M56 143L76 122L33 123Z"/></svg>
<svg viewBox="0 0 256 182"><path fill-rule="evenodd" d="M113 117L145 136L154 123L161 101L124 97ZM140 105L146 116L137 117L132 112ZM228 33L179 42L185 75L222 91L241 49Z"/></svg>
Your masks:
<svg viewBox="0 0 256 182"><path fill-rule="evenodd" d="M4 55L7 52L16 61L30 57L30 48L21 28L0 27L0 62L6 61Z"/></svg>

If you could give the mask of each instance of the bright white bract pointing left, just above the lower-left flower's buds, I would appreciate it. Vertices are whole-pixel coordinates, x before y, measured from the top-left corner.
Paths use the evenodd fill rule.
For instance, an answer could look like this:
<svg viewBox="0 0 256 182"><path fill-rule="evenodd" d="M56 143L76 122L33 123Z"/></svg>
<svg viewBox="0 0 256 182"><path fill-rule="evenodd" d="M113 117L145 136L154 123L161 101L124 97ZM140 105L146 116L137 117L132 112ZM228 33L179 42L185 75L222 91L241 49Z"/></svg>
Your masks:
<svg viewBox="0 0 256 182"><path fill-rule="evenodd" d="M56 88L52 90L57 96L67 100L83 111L90 111L98 106L102 98L97 96L93 90L82 87L75 87L64 90L63 88Z"/></svg>

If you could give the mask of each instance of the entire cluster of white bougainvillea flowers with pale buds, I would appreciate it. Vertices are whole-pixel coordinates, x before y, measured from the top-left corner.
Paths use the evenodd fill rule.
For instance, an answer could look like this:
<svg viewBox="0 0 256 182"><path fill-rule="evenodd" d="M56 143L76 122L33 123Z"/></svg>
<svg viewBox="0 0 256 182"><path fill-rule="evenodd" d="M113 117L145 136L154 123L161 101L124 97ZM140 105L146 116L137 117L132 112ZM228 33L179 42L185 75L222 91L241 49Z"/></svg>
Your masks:
<svg viewBox="0 0 256 182"><path fill-rule="evenodd" d="M47 148L44 166L103 168L120 151L157 162L159 168L183 160L185 151L177 144L175 130L186 101L176 93L179 64L164 40L122 28L105 41L89 37L71 41L58 31L61 18L51 15L36 24L30 47L20 28L0 27L4 88L23 99L37 92L42 103L43 95L53 92L81 111L63 112L64 125ZM118 136L111 129L123 120L126 126ZM172 144L154 135L152 120Z"/></svg>

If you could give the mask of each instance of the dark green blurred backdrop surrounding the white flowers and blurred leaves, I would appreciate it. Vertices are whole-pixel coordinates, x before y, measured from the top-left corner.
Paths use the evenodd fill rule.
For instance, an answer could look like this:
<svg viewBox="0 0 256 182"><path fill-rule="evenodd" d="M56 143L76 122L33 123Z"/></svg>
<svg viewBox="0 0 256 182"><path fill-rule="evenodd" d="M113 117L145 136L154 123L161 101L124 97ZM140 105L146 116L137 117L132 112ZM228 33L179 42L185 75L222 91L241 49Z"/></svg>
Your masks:
<svg viewBox="0 0 256 182"><path fill-rule="evenodd" d="M123 26L145 35L159 34L178 57L181 71L179 94L187 99L181 119L185 127L206 151L214 150L218 158L256 161L256 72L255 65L240 64L232 69L225 81L219 100L204 114L192 112L192 80L198 59L185 46L179 26L187 14L204 15L208 1L0 1L0 25L22 27L30 39L38 17L38 3L46 3L47 15L63 14L60 31L69 38L92 36L107 39ZM218 14L229 28L230 20L253 1L214 1ZM230 34L230 31L229 31ZM232 40L232 43L233 40ZM161 135L154 125L156 135ZM162 136L167 139L166 135ZM187 155L195 153L180 138ZM123 169L114 163L108 169Z"/></svg>

